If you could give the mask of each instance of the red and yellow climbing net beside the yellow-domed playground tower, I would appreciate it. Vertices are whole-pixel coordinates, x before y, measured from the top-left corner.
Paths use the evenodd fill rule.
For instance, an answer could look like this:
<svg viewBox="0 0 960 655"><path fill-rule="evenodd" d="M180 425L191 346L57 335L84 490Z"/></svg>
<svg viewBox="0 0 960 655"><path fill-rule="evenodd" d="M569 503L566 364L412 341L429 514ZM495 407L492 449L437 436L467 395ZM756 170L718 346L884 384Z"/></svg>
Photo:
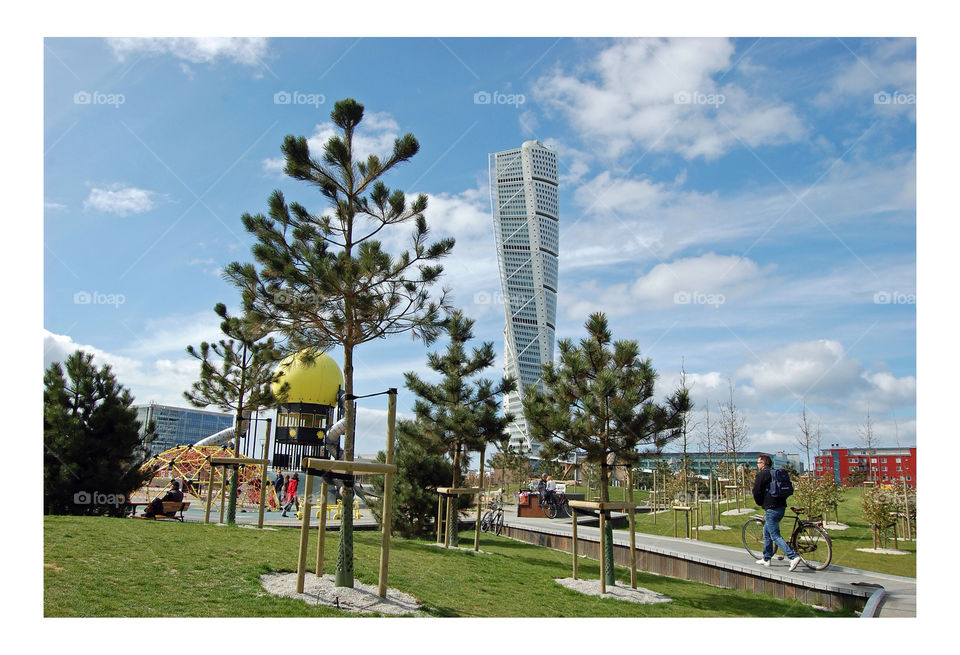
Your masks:
<svg viewBox="0 0 960 655"><path fill-rule="evenodd" d="M214 466L211 475L208 457L233 457L233 451L222 446L175 446L163 451L140 467L140 470L149 473L150 477L138 495L146 496L148 501L152 500L166 493L173 480L180 480L184 496L190 494L197 500L206 502L208 484L219 490L220 487L228 485L230 480L230 467ZM258 506L260 467L240 464L238 473L238 501L242 505ZM269 481L266 506L270 509L280 507L277 494Z"/></svg>

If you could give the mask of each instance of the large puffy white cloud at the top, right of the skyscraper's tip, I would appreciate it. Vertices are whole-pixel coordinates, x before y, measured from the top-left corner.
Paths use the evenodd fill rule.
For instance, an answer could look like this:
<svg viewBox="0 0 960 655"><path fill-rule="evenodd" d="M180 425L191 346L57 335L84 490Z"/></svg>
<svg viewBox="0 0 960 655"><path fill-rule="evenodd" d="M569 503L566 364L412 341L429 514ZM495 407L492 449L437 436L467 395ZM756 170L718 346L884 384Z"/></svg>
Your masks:
<svg viewBox="0 0 960 655"><path fill-rule="evenodd" d="M642 149L713 159L740 140L799 139L805 128L791 106L714 80L733 53L727 39L620 41L582 70L541 77L533 95L610 158Z"/></svg>

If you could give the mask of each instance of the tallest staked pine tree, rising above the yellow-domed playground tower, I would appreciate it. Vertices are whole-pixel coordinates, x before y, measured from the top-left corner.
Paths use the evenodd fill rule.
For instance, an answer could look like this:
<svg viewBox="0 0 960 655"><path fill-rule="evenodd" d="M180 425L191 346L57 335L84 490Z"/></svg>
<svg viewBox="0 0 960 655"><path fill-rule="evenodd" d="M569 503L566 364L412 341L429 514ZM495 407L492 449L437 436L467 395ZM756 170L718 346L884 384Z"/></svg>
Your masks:
<svg viewBox="0 0 960 655"><path fill-rule="evenodd" d="M278 190L270 196L270 217L243 215L243 224L257 239L257 264L234 262L226 276L241 290L244 309L278 330L291 350L343 348L346 403L344 459L354 458L356 417L353 403L353 357L360 344L410 332L429 343L439 334L446 292L437 300L430 289L443 267L436 262L450 253L453 239L428 243L423 212L427 198L408 206L402 191L391 191L380 178L408 161L420 149L412 134L394 142L393 153L355 157L354 133L363 120L363 105L346 99L330 114L340 129L319 158L304 137L287 136L282 151L285 172L316 187L330 213L311 214L299 203L287 203ZM377 235L385 228L413 222L410 248L391 257ZM344 488L343 503L353 503L353 488ZM340 524L336 584L353 586L353 517Z"/></svg>

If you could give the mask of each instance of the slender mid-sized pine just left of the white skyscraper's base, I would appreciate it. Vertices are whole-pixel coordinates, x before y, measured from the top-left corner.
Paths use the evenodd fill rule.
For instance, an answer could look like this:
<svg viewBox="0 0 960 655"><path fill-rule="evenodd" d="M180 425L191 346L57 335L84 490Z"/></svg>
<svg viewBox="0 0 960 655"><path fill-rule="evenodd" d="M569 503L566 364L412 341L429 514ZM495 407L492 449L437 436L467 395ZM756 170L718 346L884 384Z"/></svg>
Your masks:
<svg viewBox="0 0 960 655"><path fill-rule="evenodd" d="M417 399L413 405L414 420L404 421L400 429L418 439L428 451L450 457L453 487L462 483L467 453L480 451L482 459L487 444L508 438L506 428L513 420L510 414L499 414L497 398L516 389L516 382L504 378L494 385L491 380L476 378L493 366L496 355L489 341L467 352L466 344L473 338L473 323L459 310L444 321L450 344L445 353L433 352L427 356L427 366L441 376L438 383L424 382L413 372L404 373L406 387ZM456 539L454 524L451 504L447 511L451 541Z"/></svg>

